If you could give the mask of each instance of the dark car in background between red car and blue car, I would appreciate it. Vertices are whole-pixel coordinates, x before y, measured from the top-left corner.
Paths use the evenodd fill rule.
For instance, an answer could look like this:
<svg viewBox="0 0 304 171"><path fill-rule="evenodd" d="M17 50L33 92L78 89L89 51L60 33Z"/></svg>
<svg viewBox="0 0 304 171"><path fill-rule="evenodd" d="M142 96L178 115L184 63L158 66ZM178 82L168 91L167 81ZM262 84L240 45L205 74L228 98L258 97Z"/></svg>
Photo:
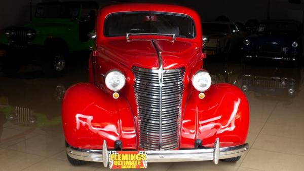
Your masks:
<svg viewBox="0 0 304 171"><path fill-rule="evenodd" d="M245 29L239 28L233 22L202 23L204 53L207 55L222 55L228 59L229 54L241 51Z"/></svg>

